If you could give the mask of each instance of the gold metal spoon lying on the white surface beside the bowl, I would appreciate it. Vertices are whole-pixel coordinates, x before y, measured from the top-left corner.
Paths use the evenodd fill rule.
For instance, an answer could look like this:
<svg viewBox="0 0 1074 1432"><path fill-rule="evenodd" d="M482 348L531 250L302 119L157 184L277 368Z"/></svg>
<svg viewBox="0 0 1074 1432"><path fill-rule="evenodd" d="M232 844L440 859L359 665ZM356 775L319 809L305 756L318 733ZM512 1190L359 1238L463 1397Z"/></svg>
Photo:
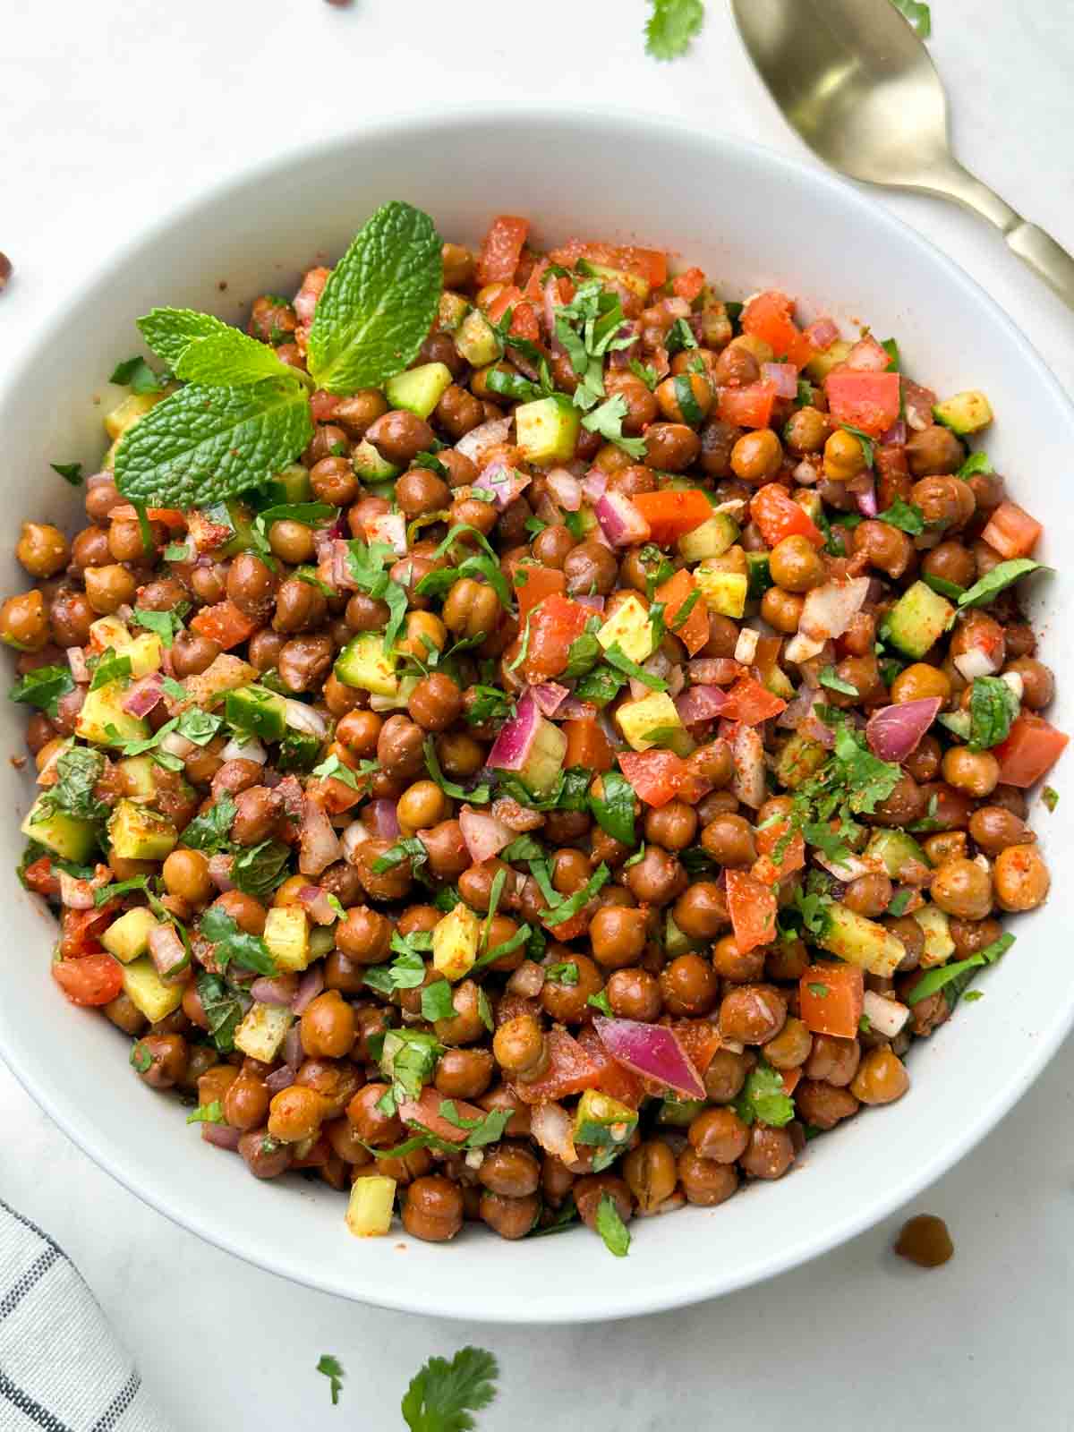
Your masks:
<svg viewBox="0 0 1074 1432"><path fill-rule="evenodd" d="M951 153L939 74L889 0L730 4L769 93L819 159L851 179L972 209L1074 308L1074 258Z"/></svg>

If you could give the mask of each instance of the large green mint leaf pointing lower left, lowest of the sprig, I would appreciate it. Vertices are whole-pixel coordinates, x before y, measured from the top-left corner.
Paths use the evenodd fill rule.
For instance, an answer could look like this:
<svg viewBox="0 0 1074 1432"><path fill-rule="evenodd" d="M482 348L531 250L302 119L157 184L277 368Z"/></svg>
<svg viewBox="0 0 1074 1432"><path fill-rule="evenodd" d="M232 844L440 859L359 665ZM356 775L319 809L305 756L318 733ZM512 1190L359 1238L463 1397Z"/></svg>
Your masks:
<svg viewBox="0 0 1074 1432"><path fill-rule="evenodd" d="M312 435L306 392L296 381L189 384L127 430L116 453L116 485L152 505L208 507L266 483Z"/></svg>

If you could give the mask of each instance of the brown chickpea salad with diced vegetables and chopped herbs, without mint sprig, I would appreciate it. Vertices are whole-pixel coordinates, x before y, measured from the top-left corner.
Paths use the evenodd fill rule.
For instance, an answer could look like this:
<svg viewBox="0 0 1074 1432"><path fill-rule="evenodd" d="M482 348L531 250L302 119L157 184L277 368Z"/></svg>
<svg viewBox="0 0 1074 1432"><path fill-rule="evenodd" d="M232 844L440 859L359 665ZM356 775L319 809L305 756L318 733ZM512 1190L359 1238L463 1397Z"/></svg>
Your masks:
<svg viewBox="0 0 1074 1432"><path fill-rule="evenodd" d="M1041 528L967 467L982 394L788 295L517 216L441 265L349 392L332 271L255 301L312 382L272 488L143 520L159 394L109 414L84 523L23 524L20 874L67 998L256 1179L324 1180L359 1236L621 1253L912 1098L1047 899Z"/></svg>

